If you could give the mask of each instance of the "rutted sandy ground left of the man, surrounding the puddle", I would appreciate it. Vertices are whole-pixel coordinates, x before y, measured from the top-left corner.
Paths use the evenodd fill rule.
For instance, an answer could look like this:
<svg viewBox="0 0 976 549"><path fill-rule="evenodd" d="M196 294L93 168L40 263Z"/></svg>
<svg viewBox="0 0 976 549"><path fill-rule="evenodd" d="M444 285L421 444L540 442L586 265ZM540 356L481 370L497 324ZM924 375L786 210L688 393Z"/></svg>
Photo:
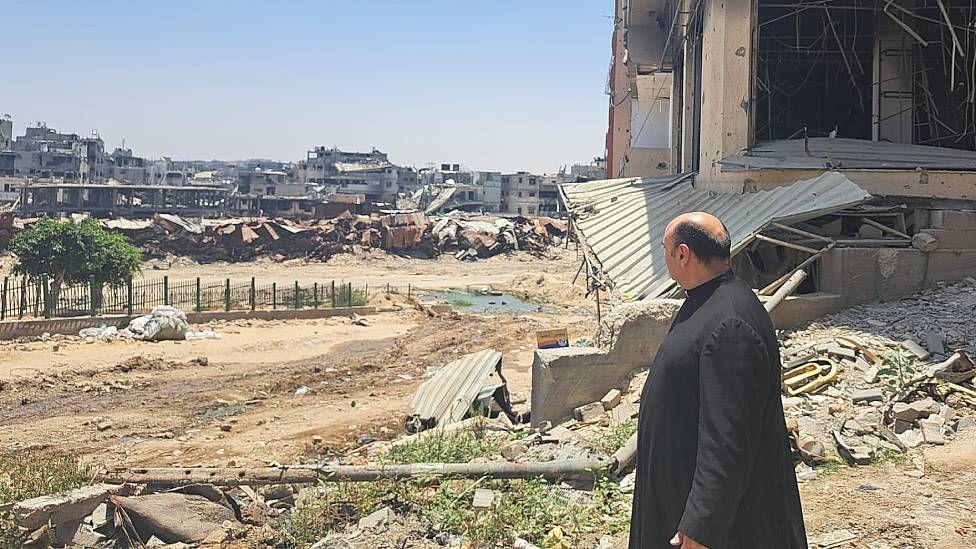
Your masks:
<svg viewBox="0 0 976 549"><path fill-rule="evenodd" d="M217 340L0 342L0 443L8 450L74 451L104 466L261 465L329 456L364 435L399 436L428 367L492 347L503 353L512 390L528 398L535 332L566 326L578 338L591 337L595 328L592 304L568 284L573 272L564 267L575 262L572 250L551 263L517 255L477 269L453 258L453 264L360 259L345 266L267 262L172 272L355 280L373 276L363 273L376 272L376 262L406 262L410 268L401 269L398 281L492 285L555 304L519 316L431 316L403 296L377 292L371 304L385 312L370 315L367 326L348 317L248 320L198 327L216 330ZM379 286L385 278L375 280ZM302 387L307 393L296 394Z"/></svg>

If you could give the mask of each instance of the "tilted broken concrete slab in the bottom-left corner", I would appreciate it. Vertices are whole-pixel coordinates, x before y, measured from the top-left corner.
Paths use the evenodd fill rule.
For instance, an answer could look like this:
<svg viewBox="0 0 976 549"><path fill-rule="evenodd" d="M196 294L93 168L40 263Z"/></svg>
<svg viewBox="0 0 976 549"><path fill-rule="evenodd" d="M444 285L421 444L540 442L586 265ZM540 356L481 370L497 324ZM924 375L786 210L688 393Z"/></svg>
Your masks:
<svg viewBox="0 0 976 549"><path fill-rule="evenodd" d="M134 494L131 484L95 484L61 494L40 496L14 504L14 522L34 530L45 524L59 524L81 520L113 495Z"/></svg>

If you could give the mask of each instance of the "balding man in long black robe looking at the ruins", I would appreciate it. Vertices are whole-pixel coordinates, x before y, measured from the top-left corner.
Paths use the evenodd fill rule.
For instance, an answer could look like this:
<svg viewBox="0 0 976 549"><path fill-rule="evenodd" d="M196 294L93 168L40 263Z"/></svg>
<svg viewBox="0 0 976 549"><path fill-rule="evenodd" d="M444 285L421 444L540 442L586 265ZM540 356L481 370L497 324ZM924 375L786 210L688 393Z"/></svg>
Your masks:
<svg viewBox="0 0 976 549"><path fill-rule="evenodd" d="M641 393L630 549L806 548L769 315L718 218L681 215L661 245L687 298Z"/></svg>

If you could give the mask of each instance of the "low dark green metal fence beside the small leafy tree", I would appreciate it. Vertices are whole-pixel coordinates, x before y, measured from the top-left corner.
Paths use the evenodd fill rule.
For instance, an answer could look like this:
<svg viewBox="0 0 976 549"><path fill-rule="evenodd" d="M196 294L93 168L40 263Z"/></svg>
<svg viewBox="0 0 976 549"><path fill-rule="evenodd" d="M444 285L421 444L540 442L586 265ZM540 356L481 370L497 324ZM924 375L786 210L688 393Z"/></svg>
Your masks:
<svg viewBox="0 0 976 549"><path fill-rule="evenodd" d="M63 285L55 299L51 286L51 280L43 277L4 277L0 320L144 314L157 305L172 305L187 312L358 307L366 304L371 291L415 292L411 286L370 288L334 280L259 284L255 278L241 282L229 278L170 280L163 276L101 288L94 281Z"/></svg>

